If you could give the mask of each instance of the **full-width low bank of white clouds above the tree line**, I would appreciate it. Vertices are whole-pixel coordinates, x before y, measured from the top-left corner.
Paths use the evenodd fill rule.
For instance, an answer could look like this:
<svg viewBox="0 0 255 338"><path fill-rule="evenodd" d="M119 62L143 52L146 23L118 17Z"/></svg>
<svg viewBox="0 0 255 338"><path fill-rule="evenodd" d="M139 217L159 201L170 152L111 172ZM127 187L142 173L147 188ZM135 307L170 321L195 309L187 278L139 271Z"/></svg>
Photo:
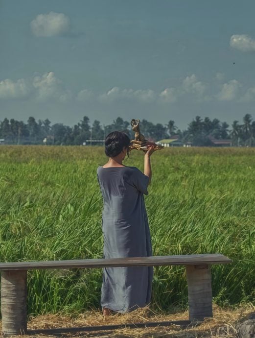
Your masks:
<svg viewBox="0 0 255 338"><path fill-rule="evenodd" d="M222 73L217 73L214 79L223 78ZM214 83L214 85L217 83ZM151 102L158 103L174 103L178 100L197 100L206 101L209 99L217 99L219 101L239 100L240 102L255 101L255 86L246 89L245 94L242 90L242 84L235 79L226 83L218 83L220 90L217 94L209 96L207 91L213 90L213 84L205 84L198 81L195 74L186 76L183 81L175 87L167 87L162 92L155 92L151 89L121 89L113 87L108 92L102 93L99 96L89 89L83 89L72 95L71 91L56 77L54 72L45 74L35 74L31 78L19 79L13 81L4 79L0 81L0 99L27 99L38 101L55 100L59 102L67 102L75 99L80 102L99 99L102 102L114 102L118 100L139 101L149 104Z"/></svg>

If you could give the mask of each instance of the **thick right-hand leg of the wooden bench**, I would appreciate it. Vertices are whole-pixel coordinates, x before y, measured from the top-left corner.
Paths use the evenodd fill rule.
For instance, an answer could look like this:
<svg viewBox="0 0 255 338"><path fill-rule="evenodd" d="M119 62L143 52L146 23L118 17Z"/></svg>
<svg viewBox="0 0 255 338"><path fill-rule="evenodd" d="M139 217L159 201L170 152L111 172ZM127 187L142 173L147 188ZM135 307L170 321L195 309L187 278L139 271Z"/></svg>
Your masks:
<svg viewBox="0 0 255 338"><path fill-rule="evenodd" d="M189 320L212 317L211 270L208 265L186 266Z"/></svg>

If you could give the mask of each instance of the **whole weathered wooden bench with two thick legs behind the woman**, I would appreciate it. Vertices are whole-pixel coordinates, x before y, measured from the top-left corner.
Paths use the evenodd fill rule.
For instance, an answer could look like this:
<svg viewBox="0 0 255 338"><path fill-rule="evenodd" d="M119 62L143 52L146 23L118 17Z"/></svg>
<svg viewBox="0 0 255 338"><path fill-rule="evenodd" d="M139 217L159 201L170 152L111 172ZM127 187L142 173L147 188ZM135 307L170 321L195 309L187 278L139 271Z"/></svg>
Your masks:
<svg viewBox="0 0 255 338"><path fill-rule="evenodd" d="M26 311L26 273L32 269L66 269L66 268L102 268L117 266L172 266L183 265L186 268L188 285L189 321L202 321L212 317L211 272L212 264L231 263L221 254L131 257L116 259L87 259L48 262L0 263L1 271L1 314L2 334L4 336L20 334L70 332L73 329L27 330ZM149 323L146 326L169 325L172 322ZM183 322L176 322L182 324ZM187 321L185 321L187 324ZM129 327L144 324L127 324ZM95 331L108 327L75 328L75 331Z"/></svg>

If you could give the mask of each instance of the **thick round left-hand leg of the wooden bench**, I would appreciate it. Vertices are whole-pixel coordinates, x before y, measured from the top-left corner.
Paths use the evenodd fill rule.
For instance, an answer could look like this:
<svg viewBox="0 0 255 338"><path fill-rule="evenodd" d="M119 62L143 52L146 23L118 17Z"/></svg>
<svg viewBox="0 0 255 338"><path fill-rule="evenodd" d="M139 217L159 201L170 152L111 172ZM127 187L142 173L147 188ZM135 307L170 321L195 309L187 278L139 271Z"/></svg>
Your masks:
<svg viewBox="0 0 255 338"><path fill-rule="evenodd" d="M2 335L26 334L26 270L1 271Z"/></svg>

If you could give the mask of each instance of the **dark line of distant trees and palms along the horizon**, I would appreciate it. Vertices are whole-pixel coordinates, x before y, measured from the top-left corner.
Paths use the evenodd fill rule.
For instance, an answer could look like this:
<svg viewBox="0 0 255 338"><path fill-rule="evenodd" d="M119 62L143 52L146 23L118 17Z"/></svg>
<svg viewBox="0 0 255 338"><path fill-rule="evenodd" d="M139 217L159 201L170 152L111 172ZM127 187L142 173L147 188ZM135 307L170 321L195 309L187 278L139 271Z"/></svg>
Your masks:
<svg viewBox="0 0 255 338"><path fill-rule="evenodd" d="M178 137L183 143L207 146L211 145L211 138L214 138L231 140L234 146L255 146L255 121L250 114L243 117L242 123L233 121L231 126L218 119L196 116L185 130L180 130L173 120L166 124L154 124L143 119L140 129L150 141ZM7 118L0 121L0 139L10 145L82 145L86 140L104 140L106 135L115 130L124 131L130 138L134 137L130 122L120 117L111 124L102 125L98 120L90 123L90 119L84 116L73 127L63 123L51 124L48 119L36 121L33 117L29 117L26 123Z"/></svg>

